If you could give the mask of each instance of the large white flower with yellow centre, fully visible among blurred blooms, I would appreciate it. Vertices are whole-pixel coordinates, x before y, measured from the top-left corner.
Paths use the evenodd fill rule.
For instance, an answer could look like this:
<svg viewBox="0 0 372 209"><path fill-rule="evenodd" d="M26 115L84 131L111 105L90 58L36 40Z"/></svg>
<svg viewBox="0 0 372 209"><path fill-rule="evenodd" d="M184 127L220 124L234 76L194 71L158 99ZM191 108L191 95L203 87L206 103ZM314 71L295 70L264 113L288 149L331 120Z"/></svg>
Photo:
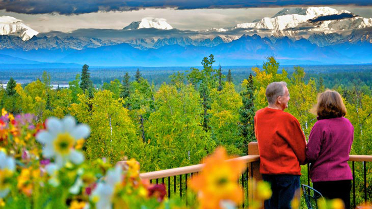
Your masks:
<svg viewBox="0 0 372 209"><path fill-rule="evenodd" d="M67 161L80 164L84 161L82 152L74 149L77 140L87 138L90 128L86 124L76 125L72 116L63 119L48 118L47 130L36 135L36 140L44 144L43 154L46 158L54 157L58 168L63 167Z"/></svg>

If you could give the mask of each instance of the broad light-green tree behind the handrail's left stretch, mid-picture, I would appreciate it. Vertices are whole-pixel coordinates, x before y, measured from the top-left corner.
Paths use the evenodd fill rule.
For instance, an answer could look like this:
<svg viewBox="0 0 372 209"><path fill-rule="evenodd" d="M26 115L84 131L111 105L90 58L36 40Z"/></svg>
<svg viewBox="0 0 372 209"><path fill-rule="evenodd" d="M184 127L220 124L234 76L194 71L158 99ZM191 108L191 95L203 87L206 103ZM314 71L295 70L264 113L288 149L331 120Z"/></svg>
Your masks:
<svg viewBox="0 0 372 209"><path fill-rule="evenodd" d="M145 159L150 170L198 164L215 147L210 135L203 131L202 105L191 85L163 84L155 93L157 110L151 113Z"/></svg>

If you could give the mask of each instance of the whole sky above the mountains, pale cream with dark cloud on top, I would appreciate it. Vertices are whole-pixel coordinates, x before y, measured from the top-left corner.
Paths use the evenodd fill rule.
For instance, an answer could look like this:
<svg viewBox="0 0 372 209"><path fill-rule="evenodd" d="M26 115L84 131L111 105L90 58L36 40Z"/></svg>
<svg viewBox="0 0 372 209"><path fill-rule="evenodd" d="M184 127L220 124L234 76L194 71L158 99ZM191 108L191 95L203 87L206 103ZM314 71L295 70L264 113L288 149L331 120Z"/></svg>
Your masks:
<svg viewBox="0 0 372 209"><path fill-rule="evenodd" d="M121 5L122 2L127 6ZM173 4L171 7L168 7L169 2ZM180 30L205 30L229 28L238 23L272 17L283 8L314 4L348 10L362 17L372 17L372 1L365 0L0 0L0 15L20 19L38 32L70 32L87 28L122 29L144 17L164 18L173 28Z"/></svg>

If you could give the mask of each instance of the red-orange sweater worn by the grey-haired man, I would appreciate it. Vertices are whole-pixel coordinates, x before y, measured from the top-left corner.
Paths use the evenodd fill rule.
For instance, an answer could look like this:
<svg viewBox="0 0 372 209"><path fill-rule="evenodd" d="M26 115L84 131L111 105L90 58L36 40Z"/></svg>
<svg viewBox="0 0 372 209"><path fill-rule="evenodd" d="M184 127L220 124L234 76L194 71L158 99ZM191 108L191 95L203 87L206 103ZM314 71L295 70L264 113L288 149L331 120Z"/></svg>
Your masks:
<svg viewBox="0 0 372 209"><path fill-rule="evenodd" d="M260 173L301 175L306 141L298 120L283 110L265 107L254 116Z"/></svg>

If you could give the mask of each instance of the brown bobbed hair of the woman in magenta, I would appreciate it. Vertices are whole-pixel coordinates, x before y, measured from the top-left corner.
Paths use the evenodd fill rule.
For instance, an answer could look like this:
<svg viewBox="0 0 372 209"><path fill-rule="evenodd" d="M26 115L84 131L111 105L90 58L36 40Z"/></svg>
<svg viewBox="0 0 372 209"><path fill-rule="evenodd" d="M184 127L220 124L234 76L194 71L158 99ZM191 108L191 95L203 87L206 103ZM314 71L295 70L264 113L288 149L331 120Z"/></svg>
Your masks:
<svg viewBox="0 0 372 209"><path fill-rule="evenodd" d="M318 103L312 110L320 118L339 118L346 115L346 107L337 91L325 90L318 96Z"/></svg>

